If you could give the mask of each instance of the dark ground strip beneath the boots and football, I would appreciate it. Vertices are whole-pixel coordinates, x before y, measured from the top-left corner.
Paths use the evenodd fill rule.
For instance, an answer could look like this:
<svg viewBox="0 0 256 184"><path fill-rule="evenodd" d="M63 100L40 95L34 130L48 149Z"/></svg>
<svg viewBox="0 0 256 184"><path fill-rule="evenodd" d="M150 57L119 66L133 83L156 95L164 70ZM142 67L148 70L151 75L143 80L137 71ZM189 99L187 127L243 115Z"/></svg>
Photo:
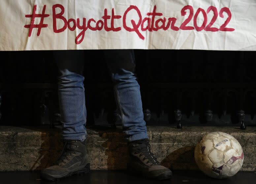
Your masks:
<svg viewBox="0 0 256 184"><path fill-rule="evenodd" d="M212 179L201 172L175 171L172 180L155 181L134 176L125 171L91 171L83 176L71 176L57 182L47 182L40 179L39 172L2 172L0 173L1 184L255 184L255 172L239 172L232 178Z"/></svg>

